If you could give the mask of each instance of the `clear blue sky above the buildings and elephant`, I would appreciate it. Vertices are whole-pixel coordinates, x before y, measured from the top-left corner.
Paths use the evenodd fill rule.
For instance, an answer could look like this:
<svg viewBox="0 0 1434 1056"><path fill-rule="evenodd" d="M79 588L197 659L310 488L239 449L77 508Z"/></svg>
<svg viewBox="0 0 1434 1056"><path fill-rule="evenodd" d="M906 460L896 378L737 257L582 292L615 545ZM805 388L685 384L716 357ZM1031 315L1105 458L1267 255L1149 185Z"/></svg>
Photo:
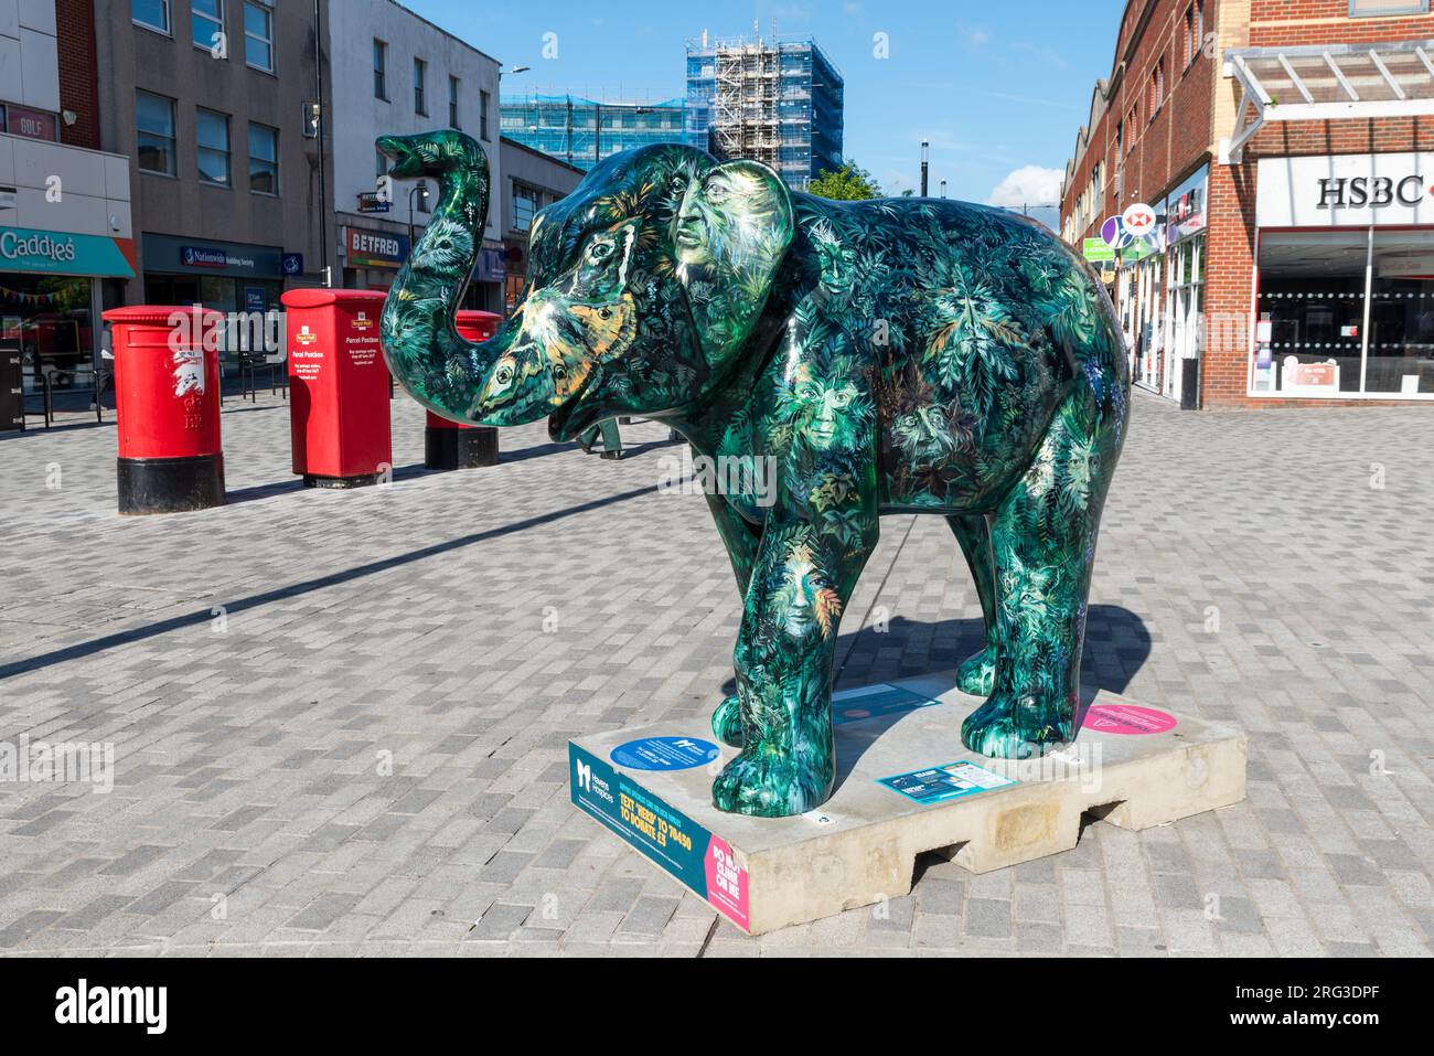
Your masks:
<svg viewBox="0 0 1434 1056"><path fill-rule="evenodd" d="M404 0L505 66L513 90L668 99L685 90L683 42L813 34L846 79L846 154L888 194L915 187L931 142L931 194L1017 204L1054 198L1060 172L1110 72L1123 0L634 3ZM556 33L556 59L543 34ZM889 57L873 55L886 33ZM1051 171L1055 172L1054 181ZM1044 217L1043 217L1044 218Z"/></svg>

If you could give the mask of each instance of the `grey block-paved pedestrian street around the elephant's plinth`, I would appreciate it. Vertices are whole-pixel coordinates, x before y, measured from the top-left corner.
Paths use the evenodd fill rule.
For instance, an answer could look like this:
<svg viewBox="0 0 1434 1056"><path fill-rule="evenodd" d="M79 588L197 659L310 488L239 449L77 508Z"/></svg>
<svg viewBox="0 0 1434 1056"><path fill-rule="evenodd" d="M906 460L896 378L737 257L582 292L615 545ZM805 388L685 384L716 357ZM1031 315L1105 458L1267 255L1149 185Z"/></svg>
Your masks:
<svg viewBox="0 0 1434 1056"><path fill-rule="evenodd" d="M1246 802L749 938L568 801L574 735L691 716L740 616L667 430L601 461L505 432L311 491L278 397L227 402L229 505L115 514L113 415L0 439L0 742L112 745L0 782L9 954L1400 954L1434 934L1434 416L1134 397L1088 689L1240 726ZM979 605L941 518L889 517L840 687L941 670Z"/></svg>

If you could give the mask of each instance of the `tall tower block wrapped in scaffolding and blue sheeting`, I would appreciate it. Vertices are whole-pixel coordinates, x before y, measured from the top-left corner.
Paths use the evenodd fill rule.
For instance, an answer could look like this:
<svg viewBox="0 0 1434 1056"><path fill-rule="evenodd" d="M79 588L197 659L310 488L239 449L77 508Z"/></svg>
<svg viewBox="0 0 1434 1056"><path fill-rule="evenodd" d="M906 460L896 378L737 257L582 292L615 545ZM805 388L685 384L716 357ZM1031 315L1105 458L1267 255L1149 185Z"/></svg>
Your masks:
<svg viewBox="0 0 1434 1056"><path fill-rule="evenodd" d="M770 165L794 188L842 166L843 90L812 37L687 40L688 142Z"/></svg>

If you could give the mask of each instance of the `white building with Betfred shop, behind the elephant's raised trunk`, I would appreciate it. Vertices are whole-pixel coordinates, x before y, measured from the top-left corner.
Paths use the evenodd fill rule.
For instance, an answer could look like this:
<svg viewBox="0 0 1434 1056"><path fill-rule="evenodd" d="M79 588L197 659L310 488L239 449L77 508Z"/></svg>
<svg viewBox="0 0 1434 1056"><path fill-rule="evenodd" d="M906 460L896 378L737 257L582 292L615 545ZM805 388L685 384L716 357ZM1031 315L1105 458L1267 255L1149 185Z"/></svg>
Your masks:
<svg viewBox="0 0 1434 1056"><path fill-rule="evenodd" d="M462 307L503 310L505 258L499 189L499 63L393 0L346 0L328 24L333 99L336 225L343 286L386 290L437 202L416 181L394 182L391 201L376 195L386 171L374 141L457 128L488 152L488 228ZM336 286L338 286L336 275Z"/></svg>

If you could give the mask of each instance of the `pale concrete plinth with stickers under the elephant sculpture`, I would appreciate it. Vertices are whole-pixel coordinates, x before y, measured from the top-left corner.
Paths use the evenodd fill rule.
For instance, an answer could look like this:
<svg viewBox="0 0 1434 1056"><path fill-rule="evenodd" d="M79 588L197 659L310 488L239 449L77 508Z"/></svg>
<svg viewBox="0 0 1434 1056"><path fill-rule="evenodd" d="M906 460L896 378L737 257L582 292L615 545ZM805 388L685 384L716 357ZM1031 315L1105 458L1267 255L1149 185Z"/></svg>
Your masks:
<svg viewBox="0 0 1434 1056"><path fill-rule="evenodd" d="M903 895L928 851L988 872L1071 849L1086 812L1143 829L1245 798L1246 740L1232 727L1180 716L1159 733L1087 727L1054 756L988 759L961 745L961 722L981 702L952 683L952 671L892 683L935 700L911 710L852 719L847 704L836 733L836 793L799 818L714 809L711 781L736 755L727 746L691 769L628 769L609 759L614 748L645 737L711 742L706 716L571 742L572 801L739 927L761 934ZM1124 703L1103 693L1093 706ZM1015 783L928 803L878 783L955 762Z"/></svg>

